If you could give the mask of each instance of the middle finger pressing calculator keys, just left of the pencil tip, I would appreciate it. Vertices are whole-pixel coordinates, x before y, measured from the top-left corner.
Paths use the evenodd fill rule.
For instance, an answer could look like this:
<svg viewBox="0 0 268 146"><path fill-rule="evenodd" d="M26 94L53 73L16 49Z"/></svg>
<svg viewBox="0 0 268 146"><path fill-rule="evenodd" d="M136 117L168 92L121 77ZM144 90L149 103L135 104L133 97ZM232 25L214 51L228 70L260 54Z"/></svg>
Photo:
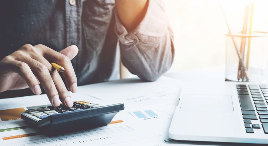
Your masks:
<svg viewBox="0 0 268 146"><path fill-rule="evenodd" d="M51 64L43 56L37 55L37 56L34 56L33 59L46 65L46 67L48 68L48 70L51 74L51 78L56 86L56 89L58 91L59 98L60 98L61 102L65 106L72 107L73 103L72 103L70 94L69 94L68 90L66 89L65 84L63 83L62 78L61 78L60 74L58 73L58 71L56 69L52 68Z"/></svg>

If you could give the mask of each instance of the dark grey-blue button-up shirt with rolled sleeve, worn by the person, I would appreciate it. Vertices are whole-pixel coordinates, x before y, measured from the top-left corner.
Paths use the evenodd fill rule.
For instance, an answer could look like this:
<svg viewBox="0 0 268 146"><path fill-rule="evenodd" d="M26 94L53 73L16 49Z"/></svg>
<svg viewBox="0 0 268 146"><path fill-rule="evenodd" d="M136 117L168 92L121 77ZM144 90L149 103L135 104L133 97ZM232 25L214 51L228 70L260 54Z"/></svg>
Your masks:
<svg viewBox="0 0 268 146"><path fill-rule="evenodd" d="M131 73L154 81L174 58L173 34L158 0L149 1L144 19L131 32L114 0L1 0L0 17L0 59L24 44L56 51L75 44L78 85L119 79L120 58Z"/></svg>

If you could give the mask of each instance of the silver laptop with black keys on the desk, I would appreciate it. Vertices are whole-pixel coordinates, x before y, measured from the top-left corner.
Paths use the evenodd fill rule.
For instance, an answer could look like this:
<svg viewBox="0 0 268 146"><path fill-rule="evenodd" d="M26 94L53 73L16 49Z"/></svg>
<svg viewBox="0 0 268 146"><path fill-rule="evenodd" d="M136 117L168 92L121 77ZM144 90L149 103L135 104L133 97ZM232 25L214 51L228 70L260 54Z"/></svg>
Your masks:
<svg viewBox="0 0 268 146"><path fill-rule="evenodd" d="M192 83L182 88L169 138L268 144L268 85Z"/></svg>

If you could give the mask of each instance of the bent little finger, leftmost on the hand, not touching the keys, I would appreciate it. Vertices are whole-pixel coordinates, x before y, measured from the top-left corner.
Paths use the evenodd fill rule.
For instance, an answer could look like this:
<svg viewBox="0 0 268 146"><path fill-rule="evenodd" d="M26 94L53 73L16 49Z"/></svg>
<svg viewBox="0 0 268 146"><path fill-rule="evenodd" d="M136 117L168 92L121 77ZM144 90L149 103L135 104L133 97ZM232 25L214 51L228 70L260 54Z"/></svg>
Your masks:
<svg viewBox="0 0 268 146"><path fill-rule="evenodd" d="M36 79L28 64L14 60L11 57L8 57L6 59L8 60L5 62L5 67L15 73L18 73L25 80L32 92L36 95L40 95L42 91L39 86L39 81Z"/></svg>

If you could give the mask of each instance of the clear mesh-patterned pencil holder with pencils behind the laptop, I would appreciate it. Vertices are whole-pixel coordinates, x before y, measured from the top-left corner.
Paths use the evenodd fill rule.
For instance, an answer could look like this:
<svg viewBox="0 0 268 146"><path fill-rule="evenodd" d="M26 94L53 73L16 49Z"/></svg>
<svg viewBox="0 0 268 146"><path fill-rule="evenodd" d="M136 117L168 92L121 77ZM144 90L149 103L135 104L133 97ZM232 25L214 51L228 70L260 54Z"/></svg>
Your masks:
<svg viewBox="0 0 268 146"><path fill-rule="evenodd" d="M225 81L268 81L268 33L226 35Z"/></svg>

